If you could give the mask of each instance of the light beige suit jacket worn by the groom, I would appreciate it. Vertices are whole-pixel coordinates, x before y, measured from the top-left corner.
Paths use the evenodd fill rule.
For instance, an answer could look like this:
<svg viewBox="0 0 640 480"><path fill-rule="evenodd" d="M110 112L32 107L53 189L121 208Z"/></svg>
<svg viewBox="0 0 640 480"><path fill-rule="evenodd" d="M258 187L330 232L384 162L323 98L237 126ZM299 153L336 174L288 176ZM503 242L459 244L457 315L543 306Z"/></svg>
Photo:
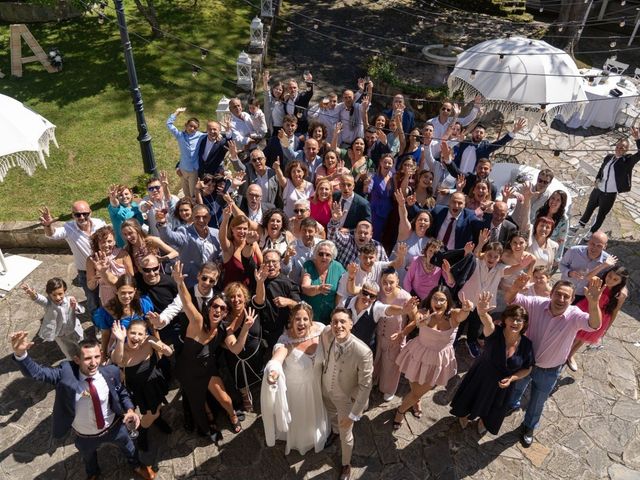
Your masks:
<svg viewBox="0 0 640 480"><path fill-rule="evenodd" d="M329 350L334 343L334 338L329 326L324 329L320 337L325 368L329 362ZM338 385L342 393L349 396L353 401L351 414L355 417L361 417L367 408L369 394L371 393L373 379L373 353L371 349L362 340L350 334L345 342L344 351L336 362L336 368L339 369ZM327 397L331 397L332 394L324 381L322 383L322 393Z"/></svg>

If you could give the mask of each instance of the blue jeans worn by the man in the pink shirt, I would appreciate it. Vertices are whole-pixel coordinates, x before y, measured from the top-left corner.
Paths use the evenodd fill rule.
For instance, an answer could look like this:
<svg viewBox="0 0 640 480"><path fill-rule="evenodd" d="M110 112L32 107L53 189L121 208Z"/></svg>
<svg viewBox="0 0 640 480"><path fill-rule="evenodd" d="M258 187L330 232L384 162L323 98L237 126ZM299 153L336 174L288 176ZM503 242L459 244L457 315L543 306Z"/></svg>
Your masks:
<svg viewBox="0 0 640 480"><path fill-rule="evenodd" d="M562 365L553 368L533 367L531 374L516 382L516 386L511 393L510 403L513 406L520 405L520 399L525 390L531 383L531 394L529 395L529 404L524 416L524 426L535 429L540 422L544 402L547 401L553 387L555 387Z"/></svg>

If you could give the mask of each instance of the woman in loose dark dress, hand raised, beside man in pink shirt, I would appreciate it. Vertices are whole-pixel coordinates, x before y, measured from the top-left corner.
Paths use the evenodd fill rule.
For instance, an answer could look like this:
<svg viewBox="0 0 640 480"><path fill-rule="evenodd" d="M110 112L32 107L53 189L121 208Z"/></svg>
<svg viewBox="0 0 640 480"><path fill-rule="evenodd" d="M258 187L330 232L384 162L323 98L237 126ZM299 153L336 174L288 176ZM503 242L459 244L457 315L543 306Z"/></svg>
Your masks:
<svg viewBox="0 0 640 480"><path fill-rule="evenodd" d="M489 315L491 293L483 292L477 310L486 337L482 355L462 379L453 400L451 414L465 428L469 420L479 418L478 433L498 434L509 410L513 385L531 372L534 364L531 340L523 336L529 324L527 311L509 305L502 313L502 326Z"/></svg>

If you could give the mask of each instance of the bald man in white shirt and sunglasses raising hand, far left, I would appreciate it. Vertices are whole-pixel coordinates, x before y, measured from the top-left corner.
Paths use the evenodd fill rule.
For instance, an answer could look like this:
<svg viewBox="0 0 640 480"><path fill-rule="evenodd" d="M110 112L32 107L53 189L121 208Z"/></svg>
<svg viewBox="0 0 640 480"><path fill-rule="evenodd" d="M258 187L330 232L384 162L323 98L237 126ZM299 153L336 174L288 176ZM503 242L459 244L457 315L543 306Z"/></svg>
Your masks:
<svg viewBox="0 0 640 480"><path fill-rule="evenodd" d="M78 200L71 205L71 216L73 220L54 229L54 219L49 207L44 206L40 209L40 223L47 238L64 238L69 244L78 270L78 283L87 297L87 313L91 315L98 308L98 289L91 290L87 285L87 258L91 255L91 235L106 224L99 218L91 218L91 207L84 200Z"/></svg>

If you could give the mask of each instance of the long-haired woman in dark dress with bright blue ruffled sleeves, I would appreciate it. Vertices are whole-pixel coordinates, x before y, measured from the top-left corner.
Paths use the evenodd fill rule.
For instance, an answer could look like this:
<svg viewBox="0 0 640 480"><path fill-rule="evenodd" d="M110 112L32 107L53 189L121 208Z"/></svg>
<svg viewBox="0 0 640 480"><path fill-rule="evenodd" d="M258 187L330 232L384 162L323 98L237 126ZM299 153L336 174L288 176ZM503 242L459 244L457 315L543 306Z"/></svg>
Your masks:
<svg viewBox="0 0 640 480"><path fill-rule="evenodd" d="M93 312L93 324L101 330L102 360L106 362L113 346L111 327L118 320L124 328L133 320L144 320L153 311L153 303L146 295L140 296L132 275L122 275L115 284L116 295L106 305Z"/></svg>

